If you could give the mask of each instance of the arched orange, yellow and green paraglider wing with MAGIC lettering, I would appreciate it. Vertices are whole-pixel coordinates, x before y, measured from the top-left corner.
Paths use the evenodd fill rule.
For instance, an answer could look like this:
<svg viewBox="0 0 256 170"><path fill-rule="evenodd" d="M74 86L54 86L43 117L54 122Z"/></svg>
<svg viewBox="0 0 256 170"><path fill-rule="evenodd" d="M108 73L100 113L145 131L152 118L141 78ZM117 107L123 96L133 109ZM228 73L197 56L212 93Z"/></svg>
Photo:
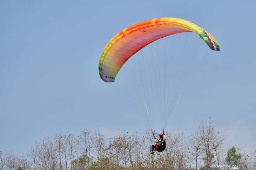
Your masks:
<svg viewBox="0 0 256 170"><path fill-rule="evenodd" d="M181 32L195 32L210 49L220 50L216 39L194 23L171 17L147 20L123 29L106 45L99 61L101 79L105 82L114 82L123 64L144 46Z"/></svg>

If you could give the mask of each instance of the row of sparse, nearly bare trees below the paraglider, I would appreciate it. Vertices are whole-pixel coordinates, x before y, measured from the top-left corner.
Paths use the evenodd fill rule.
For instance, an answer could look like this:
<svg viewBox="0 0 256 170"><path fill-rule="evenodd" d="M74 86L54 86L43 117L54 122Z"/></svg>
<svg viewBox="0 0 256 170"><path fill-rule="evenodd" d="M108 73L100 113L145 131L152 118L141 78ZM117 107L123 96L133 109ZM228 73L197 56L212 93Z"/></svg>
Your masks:
<svg viewBox="0 0 256 170"><path fill-rule="evenodd" d="M0 170L204 170L207 164L237 164L256 169L256 151L245 155L239 148L225 148L225 135L211 122L201 121L195 132L166 131L166 150L148 155L154 138L120 131L109 138L99 131L81 135L63 132L36 141L25 153L0 149ZM250 166L247 161L250 159Z"/></svg>

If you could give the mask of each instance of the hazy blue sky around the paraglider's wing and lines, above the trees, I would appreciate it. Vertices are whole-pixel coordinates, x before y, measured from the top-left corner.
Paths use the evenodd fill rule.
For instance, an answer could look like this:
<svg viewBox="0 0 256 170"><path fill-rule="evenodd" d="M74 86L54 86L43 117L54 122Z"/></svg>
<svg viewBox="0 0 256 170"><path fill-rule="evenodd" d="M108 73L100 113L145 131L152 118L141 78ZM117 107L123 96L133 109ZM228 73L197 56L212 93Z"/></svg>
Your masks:
<svg viewBox="0 0 256 170"><path fill-rule="evenodd" d="M144 131L134 109L100 79L99 58L129 25L178 17L210 32L221 51L204 62L168 129L189 134L212 117L229 146L256 149L255 6L255 1L0 1L0 148L24 151L59 130L99 129L110 136L119 129Z"/></svg>

